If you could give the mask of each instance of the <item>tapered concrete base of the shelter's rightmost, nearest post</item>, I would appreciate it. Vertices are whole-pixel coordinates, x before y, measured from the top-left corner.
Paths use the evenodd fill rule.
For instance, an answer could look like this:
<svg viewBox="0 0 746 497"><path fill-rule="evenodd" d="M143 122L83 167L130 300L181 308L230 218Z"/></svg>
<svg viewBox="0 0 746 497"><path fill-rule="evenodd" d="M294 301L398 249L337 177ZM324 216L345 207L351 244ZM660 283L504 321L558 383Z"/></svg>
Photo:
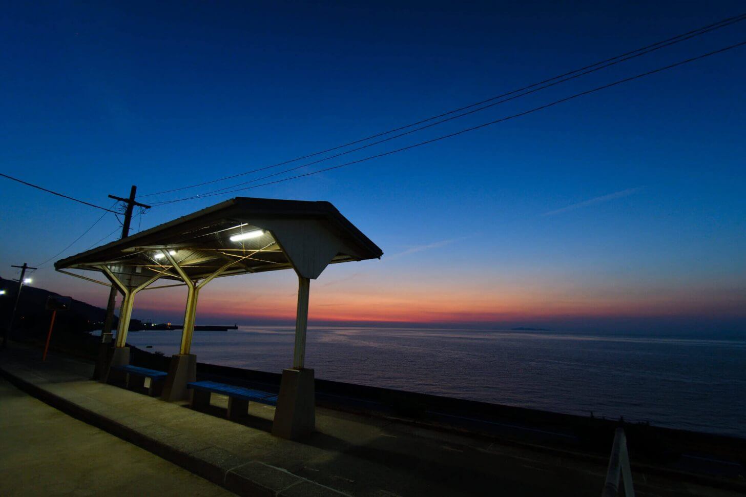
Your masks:
<svg viewBox="0 0 746 497"><path fill-rule="evenodd" d="M297 440L316 431L313 369L283 369L272 434Z"/></svg>

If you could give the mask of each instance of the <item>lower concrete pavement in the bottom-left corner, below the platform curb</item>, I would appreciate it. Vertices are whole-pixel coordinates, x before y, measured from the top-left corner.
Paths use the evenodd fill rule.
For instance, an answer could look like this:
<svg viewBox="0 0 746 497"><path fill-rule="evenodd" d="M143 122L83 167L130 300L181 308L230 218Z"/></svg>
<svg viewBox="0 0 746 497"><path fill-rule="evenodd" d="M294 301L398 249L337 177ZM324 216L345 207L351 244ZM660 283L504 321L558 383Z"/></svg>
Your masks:
<svg viewBox="0 0 746 497"><path fill-rule="evenodd" d="M2 496L234 495L61 413L3 378L0 399Z"/></svg>

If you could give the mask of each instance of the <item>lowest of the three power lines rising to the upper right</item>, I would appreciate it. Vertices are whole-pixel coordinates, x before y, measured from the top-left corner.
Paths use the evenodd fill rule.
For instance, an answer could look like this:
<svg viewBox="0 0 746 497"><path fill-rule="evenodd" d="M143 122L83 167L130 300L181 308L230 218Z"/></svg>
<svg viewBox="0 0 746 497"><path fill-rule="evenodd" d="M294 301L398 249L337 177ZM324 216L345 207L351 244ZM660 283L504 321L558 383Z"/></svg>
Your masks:
<svg viewBox="0 0 746 497"><path fill-rule="evenodd" d="M710 52L707 52L706 54L698 55L697 57L691 57L691 58L686 59L686 60L680 60L677 63L672 63L672 64L669 64L668 66L659 67L658 69L653 69L653 70L648 71L648 72L642 72L642 73L640 73L638 75L630 76L629 78L624 78L624 79L621 79L621 80L618 80L618 81L614 81L612 83L604 84L604 85L602 85L600 87L595 87L595 88L593 88L591 90L586 90L586 91L583 91L583 92L580 92L580 93L575 93L574 95L565 97L564 99L556 100L556 101L553 101L553 102L551 102L549 104L541 105L539 107L533 107L533 109L524 110L523 112L517 113L517 114L513 114L512 116L503 117L501 119L495 119L494 121L484 122L484 123L482 123L480 125L472 126L471 128L465 128L463 130L456 131L456 132L451 133L451 134L445 134L445 135L442 135L441 137L436 137L436 138L433 138L431 140L425 140L424 142L415 143L415 144L410 145L410 146L401 147L401 149L395 149L395 150L386 151L386 152L383 152L383 153L380 153L380 154L371 155L369 157L363 157L362 159L353 160L353 161L348 162L348 163L339 164L338 166L331 166L331 167L327 167L325 169L319 169L317 171L307 172L307 173L304 173L302 175L291 176L290 178L283 178L283 179L280 179L280 180L277 180L277 181L270 181L268 183L253 185L251 187L238 188L236 190L228 190L228 191L221 192L221 193L210 193L210 194L206 194L206 195L197 195L197 196L185 197L184 199L176 199L176 200L170 200L170 201L156 202L155 205L173 204L173 203L179 202L179 201L192 200L192 199L202 199L202 198L205 198L205 197L211 197L211 196L217 196L217 195L225 195L225 194L228 194L228 193L235 193L235 192L239 192L239 191L242 191L242 190L251 190L252 188L266 187L266 186L271 185L271 184L278 184L278 183L282 183L283 181L290 181L290 180L293 180L293 179L304 178L306 176L319 174L320 172L331 171L333 169L339 169L339 168L342 168L342 167L345 167L345 166L351 166L353 164L366 162L367 160L372 160L372 159L375 159L375 158L378 158L378 157L385 157L386 155L391 155L391 154L398 153L400 151L414 149L416 147L427 145L429 143L434 143L434 142L438 142L440 140L445 140L446 138L456 137L456 136L458 136L460 134L468 133L469 131L475 131L475 130L480 129L480 128L486 128L487 126L495 125L498 122L504 122L504 121L508 121L510 119L516 119L516 118L521 117L521 116L526 116L527 114L534 113L534 112L537 112L539 110L546 109L548 107L553 107L554 105L561 104L562 102L565 102L565 101L577 99L577 98L579 98L581 96L586 96L586 95L589 95L590 93L595 93L595 92L598 92L598 91L601 91L601 90L606 90L607 88L615 87L618 84L623 84L623 83L627 83L629 81L633 81L633 80L636 80L636 79L639 79L639 78L644 78L645 76L653 75L653 74L656 74L657 72L662 72L662 71L665 71L667 69L672 69L672 68L677 67L677 66L682 66L683 64L691 63L691 62L694 62L695 60L700 60L700 59L703 59L705 57L710 57L710 56L715 55L715 54L721 54L724 51L736 49L739 46L744 46L744 45L746 45L746 41L742 41L741 43L736 43L735 45L730 45L730 46L727 46L727 47L724 47L722 49L718 49L718 50L715 50L715 51L710 51ZM260 179L262 179L262 178L260 178Z"/></svg>

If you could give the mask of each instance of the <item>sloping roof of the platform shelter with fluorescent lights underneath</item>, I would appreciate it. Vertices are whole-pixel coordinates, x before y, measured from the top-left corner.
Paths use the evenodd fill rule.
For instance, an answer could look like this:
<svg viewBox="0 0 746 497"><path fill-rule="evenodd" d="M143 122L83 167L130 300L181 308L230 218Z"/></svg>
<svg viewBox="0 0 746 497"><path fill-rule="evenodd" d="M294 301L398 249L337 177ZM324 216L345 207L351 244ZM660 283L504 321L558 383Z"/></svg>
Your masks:
<svg viewBox="0 0 746 497"><path fill-rule="evenodd" d="M294 268L306 278L316 278L329 263L383 255L327 201L236 197L58 260L54 267L103 272L106 266L134 280L158 272L162 278L181 280L163 250L192 281L207 278L228 263L221 276Z"/></svg>

